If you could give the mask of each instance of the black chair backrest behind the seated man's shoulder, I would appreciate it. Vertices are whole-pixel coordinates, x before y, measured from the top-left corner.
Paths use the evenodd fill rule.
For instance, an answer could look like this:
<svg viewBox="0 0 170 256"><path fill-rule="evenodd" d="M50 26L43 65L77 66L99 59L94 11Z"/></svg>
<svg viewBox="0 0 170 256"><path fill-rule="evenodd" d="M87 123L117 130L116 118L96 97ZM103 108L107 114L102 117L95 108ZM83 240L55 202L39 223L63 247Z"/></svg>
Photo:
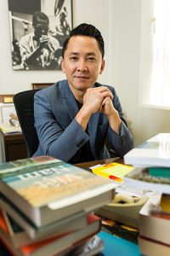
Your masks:
<svg viewBox="0 0 170 256"><path fill-rule="evenodd" d="M39 144L34 127L34 95L36 92L37 90L25 90L14 95L14 108L26 141L28 157L36 152Z"/></svg>

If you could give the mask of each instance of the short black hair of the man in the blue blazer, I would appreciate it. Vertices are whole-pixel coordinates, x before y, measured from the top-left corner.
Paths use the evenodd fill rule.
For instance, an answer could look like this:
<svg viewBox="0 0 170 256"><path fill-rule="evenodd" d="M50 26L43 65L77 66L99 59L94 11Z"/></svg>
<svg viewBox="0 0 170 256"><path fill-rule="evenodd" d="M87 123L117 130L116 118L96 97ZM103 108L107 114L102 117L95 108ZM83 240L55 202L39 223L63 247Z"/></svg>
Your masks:
<svg viewBox="0 0 170 256"><path fill-rule="evenodd" d="M101 52L102 58L104 57L105 43L104 43L104 39L103 39L101 33L95 26L93 26L91 24L87 24L87 23L82 23L82 24L76 26L75 28L73 28L70 32L69 37L65 39L65 42L63 44L63 49L62 49L62 57L63 58L64 58L65 50L67 49L70 39L74 36L79 36L79 35L95 38L99 44L99 50Z"/></svg>

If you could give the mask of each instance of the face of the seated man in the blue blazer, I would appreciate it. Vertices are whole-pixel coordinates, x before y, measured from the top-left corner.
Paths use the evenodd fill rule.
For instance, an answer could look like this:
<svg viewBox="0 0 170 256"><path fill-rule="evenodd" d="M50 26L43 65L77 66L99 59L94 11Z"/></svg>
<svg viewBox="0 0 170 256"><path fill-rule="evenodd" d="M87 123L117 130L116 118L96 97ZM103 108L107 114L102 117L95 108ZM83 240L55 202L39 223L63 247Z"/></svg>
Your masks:
<svg viewBox="0 0 170 256"><path fill-rule="evenodd" d="M70 39L61 64L73 94L94 85L105 67L95 38L77 35Z"/></svg>

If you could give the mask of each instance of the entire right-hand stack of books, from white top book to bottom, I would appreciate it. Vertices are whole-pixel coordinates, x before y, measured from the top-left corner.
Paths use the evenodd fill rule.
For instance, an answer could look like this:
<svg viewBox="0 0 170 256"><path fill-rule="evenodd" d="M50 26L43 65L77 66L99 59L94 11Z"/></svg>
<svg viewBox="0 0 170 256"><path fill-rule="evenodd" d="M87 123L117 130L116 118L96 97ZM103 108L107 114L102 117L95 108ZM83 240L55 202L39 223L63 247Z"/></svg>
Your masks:
<svg viewBox="0 0 170 256"><path fill-rule="evenodd" d="M170 133L151 137L125 154L124 161L135 166L124 182L150 193L139 212L140 252L170 255Z"/></svg>

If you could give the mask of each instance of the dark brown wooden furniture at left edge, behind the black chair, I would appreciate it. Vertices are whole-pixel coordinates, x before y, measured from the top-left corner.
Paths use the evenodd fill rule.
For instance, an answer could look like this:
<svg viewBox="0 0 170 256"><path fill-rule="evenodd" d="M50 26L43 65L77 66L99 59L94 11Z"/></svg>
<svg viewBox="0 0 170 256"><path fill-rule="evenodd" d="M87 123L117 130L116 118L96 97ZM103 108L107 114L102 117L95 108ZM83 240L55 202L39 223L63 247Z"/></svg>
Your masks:
<svg viewBox="0 0 170 256"><path fill-rule="evenodd" d="M0 131L2 162L27 157L26 143L21 133L3 134Z"/></svg>

